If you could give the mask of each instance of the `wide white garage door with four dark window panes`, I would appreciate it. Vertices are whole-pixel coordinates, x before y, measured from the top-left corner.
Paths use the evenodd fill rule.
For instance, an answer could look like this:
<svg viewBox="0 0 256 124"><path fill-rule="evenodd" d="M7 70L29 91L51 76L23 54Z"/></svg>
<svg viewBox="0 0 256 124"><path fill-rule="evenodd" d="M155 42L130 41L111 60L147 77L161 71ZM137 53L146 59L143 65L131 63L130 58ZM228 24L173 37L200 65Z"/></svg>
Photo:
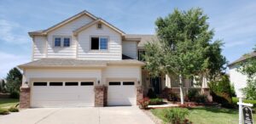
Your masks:
<svg viewBox="0 0 256 124"><path fill-rule="evenodd" d="M94 82L33 82L32 107L94 106Z"/></svg>

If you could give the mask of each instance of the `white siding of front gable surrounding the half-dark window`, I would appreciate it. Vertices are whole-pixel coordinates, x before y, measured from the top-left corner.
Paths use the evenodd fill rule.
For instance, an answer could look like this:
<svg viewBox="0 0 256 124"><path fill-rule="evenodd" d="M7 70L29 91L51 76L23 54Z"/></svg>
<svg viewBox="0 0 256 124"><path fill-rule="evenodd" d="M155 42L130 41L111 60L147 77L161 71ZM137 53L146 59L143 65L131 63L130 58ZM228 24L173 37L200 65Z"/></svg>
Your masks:
<svg viewBox="0 0 256 124"><path fill-rule="evenodd" d="M90 49L90 37L108 37L108 50L95 51ZM96 25L92 25L78 35L78 59L94 59L94 60L120 60L122 59L122 39L121 35L113 31L106 25L102 25L102 29L96 29Z"/></svg>

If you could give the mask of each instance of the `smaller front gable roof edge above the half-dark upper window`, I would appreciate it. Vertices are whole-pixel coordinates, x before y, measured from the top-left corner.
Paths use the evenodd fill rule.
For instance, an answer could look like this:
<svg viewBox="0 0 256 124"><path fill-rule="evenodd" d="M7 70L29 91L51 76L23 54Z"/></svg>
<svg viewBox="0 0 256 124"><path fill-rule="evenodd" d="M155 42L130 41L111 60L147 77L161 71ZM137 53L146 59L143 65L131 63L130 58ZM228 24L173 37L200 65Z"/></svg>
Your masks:
<svg viewBox="0 0 256 124"><path fill-rule="evenodd" d="M102 20L101 18L98 18L97 20L94 20L88 24L85 24L83 26L81 26L79 29L73 31L74 35L78 35L80 31L84 31L85 29L89 28L91 25L95 25L97 23L102 23L104 25L107 25L109 28L113 29L113 31L117 31L119 32L122 36L125 36L125 32L119 30L117 27L111 25L110 23L108 23L106 20Z"/></svg>

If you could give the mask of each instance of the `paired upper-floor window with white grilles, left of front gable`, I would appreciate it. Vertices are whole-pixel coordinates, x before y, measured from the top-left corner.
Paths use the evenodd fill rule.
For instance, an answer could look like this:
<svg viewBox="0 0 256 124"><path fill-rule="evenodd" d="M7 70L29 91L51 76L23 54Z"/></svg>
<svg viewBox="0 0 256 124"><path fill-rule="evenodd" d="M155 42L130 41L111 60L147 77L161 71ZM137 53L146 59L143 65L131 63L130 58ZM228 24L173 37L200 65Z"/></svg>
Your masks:
<svg viewBox="0 0 256 124"><path fill-rule="evenodd" d="M70 47L70 37L55 37L54 38L54 46L61 47Z"/></svg>

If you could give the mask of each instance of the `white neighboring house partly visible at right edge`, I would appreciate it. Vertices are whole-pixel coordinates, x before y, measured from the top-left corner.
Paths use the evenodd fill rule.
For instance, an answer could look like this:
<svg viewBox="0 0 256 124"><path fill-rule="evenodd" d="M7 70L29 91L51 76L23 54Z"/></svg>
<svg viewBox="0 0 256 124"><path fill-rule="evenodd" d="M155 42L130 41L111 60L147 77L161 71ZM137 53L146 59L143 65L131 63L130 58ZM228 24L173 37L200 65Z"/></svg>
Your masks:
<svg viewBox="0 0 256 124"><path fill-rule="evenodd" d="M234 84L235 91L236 91L236 97L242 97L244 98L245 95L241 92L241 89L247 86L247 76L244 74L241 74L237 69L240 67L239 63L242 63L247 60L247 58L256 57L256 52L252 52L250 54L247 54L248 56L241 56L240 59L237 59L236 61L232 62L230 67L230 82Z"/></svg>

